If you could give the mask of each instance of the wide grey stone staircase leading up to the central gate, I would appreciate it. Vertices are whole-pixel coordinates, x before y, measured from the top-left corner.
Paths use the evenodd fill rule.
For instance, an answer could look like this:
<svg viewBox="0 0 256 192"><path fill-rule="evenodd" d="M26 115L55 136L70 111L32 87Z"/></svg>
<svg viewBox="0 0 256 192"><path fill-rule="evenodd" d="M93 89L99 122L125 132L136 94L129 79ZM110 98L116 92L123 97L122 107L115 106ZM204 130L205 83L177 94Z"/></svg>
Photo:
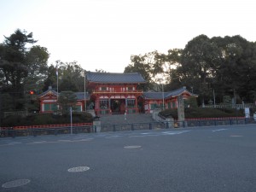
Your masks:
<svg viewBox="0 0 256 192"><path fill-rule="evenodd" d="M101 115L100 121L102 125L120 125L120 124L136 124L136 123L151 123L154 122L151 113L130 113Z"/></svg>

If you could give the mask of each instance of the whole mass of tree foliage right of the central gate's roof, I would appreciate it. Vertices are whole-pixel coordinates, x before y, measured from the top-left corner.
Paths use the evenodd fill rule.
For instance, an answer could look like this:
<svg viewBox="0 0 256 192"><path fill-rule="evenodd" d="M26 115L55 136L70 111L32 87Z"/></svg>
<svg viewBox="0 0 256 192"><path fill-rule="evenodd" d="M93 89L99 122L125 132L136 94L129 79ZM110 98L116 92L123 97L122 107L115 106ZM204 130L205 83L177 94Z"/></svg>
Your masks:
<svg viewBox="0 0 256 192"><path fill-rule="evenodd" d="M230 96L234 103L256 100L256 44L241 36L193 38L184 49L170 49L133 55L125 72L143 74L148 84L144 90L154 90L165 82L165 90L186 86L199 95L200 104L216 97L216 103Z"/></svg>

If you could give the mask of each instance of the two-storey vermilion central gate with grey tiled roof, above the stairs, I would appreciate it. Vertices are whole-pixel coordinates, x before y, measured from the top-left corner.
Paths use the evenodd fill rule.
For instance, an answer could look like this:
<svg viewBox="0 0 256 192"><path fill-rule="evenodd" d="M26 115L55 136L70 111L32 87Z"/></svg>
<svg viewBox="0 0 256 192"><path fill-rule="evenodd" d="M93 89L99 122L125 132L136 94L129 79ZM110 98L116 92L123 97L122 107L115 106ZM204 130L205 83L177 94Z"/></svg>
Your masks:
<svg viewBox="0 0 256 192"><path fill-rule="evenodd" d="M86 79L96 114L138 113L143 91L137 90L137 85L146 83L140 73L89 72Z"/></svg>

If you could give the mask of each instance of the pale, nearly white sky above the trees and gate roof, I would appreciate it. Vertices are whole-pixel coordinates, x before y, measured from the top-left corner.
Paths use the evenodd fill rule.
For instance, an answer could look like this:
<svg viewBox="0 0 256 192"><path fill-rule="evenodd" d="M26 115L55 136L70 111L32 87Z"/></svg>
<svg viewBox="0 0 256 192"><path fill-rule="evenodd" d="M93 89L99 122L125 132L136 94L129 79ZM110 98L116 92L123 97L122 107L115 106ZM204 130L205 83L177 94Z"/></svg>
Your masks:
<svg viewBox="0 0 256 192"><path fill-rule="evenodd" d="M180 48L198 35L256 41L253 0L0 0L0 42L17 28L49 50L49 64L123 73L131 55Z"/></svg>

